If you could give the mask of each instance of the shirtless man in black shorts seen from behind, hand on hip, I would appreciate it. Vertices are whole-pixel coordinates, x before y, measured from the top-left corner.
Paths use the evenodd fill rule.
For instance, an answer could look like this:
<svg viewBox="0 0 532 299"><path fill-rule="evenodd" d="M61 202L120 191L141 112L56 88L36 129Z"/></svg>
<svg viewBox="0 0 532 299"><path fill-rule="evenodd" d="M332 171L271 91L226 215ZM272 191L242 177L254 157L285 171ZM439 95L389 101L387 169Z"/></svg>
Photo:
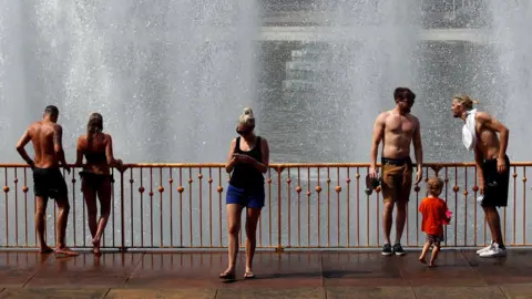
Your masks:
<svg viewBox="0 0 532 299"><path fill-rule="evenodd" d="M50 105L44 110L41 121L31 124L24 132L17 151L20 156L30 165L33 171L33 190L37 198L35 209L35 230L39 237L41 252L52 252L44 240L44 220L47 215L48 198L54 198L59 208L58 216L58 240L55 254L62 256L78 256L76 252L66 248L64 238L66 234L66 221L69 217L69 197L66 183L59 169L61 164L66 172L70 167L64 159L62 146L63 128L57 124L59 110L57 106ZM35 159L32 161L25 152L25 145L31 141L35 152Z"/></svg>

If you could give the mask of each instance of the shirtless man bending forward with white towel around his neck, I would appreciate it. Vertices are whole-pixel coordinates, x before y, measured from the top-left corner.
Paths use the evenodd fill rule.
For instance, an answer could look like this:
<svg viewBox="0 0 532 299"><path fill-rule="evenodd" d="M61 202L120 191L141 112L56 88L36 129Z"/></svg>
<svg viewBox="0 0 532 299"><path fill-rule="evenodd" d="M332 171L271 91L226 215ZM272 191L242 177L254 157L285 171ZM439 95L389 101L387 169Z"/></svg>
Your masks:
<svg viewBox="0 0 532 299"><path fill-rule="evenodd" d="M468 150L474 151L481 206L492 236L490 246L478 250L477 254L480 257L503 257L507 249L502 240L501 219L497 207L508 205L510 159L507 156L507 147L510 131L490 114L473 110L473 101L468 95L454 96L452 116L473 124L470 122L472 120L468 120L469 114L475 122L474 134L469 138L471 142L467 146Z"/></svg>

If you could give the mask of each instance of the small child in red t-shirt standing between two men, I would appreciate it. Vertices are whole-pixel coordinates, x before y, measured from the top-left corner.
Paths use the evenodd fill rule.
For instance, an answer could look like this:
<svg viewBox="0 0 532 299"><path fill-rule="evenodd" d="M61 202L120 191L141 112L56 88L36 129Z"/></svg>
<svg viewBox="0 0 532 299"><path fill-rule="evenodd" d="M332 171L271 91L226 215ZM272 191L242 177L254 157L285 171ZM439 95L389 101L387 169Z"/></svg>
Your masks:
<svg viewBox="0 0 532 299"><path fill-rule="evenodd" d="M438 177L431 177L427 182L427 188L429 196L421 200L419 205L419 212L423 215L421 221L421 230L427 234L427 243L423 246L419 261L427 264L426 256L431 245L432 256L430 258L430 267L436 266L434 260L440 251L440 243L443 241L443 225L450 223L450 217L447 215L447 204L438 196L443 188L443 181Z"/></svg>

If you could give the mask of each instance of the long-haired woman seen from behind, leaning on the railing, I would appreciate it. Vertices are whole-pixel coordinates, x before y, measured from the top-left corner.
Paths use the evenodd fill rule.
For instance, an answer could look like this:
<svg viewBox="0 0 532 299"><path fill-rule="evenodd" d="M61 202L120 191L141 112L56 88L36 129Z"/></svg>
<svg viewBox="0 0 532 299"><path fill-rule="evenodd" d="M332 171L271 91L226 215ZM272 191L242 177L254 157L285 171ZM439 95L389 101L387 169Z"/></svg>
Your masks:
<svg viewBox="0 0 532 299"><path fill-rule="evenodd" d="M81 176L81 190L85 199L89 229L92 235L94 255L100 255L100 238L102 237L111 213L112 175L110 167L120 167L121 159L113 156L113 140L103 132L103 117L93 113L86 124L86 135L78 138L76 166L83 165ZM100 219L98 219L96 197L100 199Z"/></svg>

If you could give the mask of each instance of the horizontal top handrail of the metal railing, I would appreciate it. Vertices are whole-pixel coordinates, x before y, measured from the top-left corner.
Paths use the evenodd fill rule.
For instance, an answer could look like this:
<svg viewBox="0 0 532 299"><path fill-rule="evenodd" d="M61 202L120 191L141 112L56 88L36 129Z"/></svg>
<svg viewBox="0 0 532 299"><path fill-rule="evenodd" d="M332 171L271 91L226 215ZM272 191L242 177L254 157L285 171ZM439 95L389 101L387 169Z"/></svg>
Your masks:
<svg viewBox="0 0 532 299"><path fill-rule="evenodd" d="M417 164L413 163L413 166ZM70 167L82 167L75 164L69 164ZM127 163L123 165L124 167L174 167L174 168L185 168L185 167L225 167L225 163L212 162L212 163ZM287 168L287 167L369 167L370 163L270 163L270 168ZM377 163L377 166L380 166L380 163ZM423 167L464 167L464 166L475 166L473 162L429 162L423 163ZM532 166L532 162L511 162L510 166ZM0 164L0 167L30 167L24 163L6 163ZM61 166L60 166L61 167Z"/></svg>

